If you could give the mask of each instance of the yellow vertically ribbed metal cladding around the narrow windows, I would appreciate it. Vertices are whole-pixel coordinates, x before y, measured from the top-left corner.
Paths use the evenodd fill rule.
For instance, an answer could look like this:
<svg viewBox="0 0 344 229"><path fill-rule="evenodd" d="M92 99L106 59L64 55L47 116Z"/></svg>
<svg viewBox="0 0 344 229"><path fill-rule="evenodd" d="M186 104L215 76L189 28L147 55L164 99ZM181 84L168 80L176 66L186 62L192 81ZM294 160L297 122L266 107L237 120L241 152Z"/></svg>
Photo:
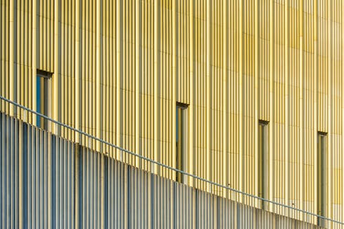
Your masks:
<svg viewBox="0 0 344 229"><path fill-rule="evenodd" d="M36 109L36 69L52 72L52 118L171 166L176 104L187 104L187 172L254 195L264 120L268 199L311 212L317 135L327 133L326 212L343 221L343 12L341 0L1 0L0 93ZM36 122L4 102L1 111ZM175 179L70 130L50 130Z"/></svg>

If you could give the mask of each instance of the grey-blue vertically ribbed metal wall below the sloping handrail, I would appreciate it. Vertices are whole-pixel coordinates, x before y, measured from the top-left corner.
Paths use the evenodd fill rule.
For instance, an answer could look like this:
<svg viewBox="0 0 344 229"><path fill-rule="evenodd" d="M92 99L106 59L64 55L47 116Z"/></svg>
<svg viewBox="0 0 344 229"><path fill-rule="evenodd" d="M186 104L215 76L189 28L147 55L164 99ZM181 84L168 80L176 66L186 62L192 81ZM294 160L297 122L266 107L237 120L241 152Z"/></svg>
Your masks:
<svg viewBox="0 0 344 229"><path fill-rule="evenodd" d="M1 228L316 228L118 162L0 113Z"/></svg>

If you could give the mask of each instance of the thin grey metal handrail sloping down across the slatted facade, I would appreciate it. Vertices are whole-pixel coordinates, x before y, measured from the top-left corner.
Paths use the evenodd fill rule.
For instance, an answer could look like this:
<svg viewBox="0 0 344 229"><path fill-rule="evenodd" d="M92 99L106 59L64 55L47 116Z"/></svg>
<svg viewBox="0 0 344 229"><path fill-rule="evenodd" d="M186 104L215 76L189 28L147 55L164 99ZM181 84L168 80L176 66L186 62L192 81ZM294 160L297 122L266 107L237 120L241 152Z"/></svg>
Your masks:
<svg viewBox="0 0 344 229"><path fill-rule="evenodd" d="M344 222L342 222L342 221L337 221L337 220L334 220L334 219L330 219L330 218L327 218L327 217L323 217L322 215L316 215L316 214L313 213L313 212L308 212L308 211L302 210L302 209L300 209L300 208L294 208L294 207L292 207L292 206L288 206L288 205L286 205L286 204L281 204L281 203L279 203L279 202L272 201L272 200L270 200L270 199L265 199L265 198L262 198L262 197L258 197L258 196L256 196L256 195L252 195L252 194L250 194L250 193L245 193L245 192L243 192L243 191L241 191L241 190L237 190L237 189L235 189L235 188L230 188L230 187L228 187L228 186L224 186L224 185L222 185L222 184L218 184L218 183L216 183L216 182L212 182L212 181L210 181L210 180L208 180L208 179L204 179L204 178L202 178L202 177L198 177L197 175L193 175L193 174L191 174L191 173L186 173L185 171L182 171L182 170L180 170L180 169L178 169L178 168L173 168L173 167L168 166L168 165L166 165L166 164L162 164L162 163L160 163L160 162L156 162L155 160L152 160L152 159L150 159L150 158L148 158L148 157L144 157L144 156L142 156L142 155L139 155L139 154L137 154L137 153L134 153L134 152L132 152L132 151L129 151L129 150L127 150L127 149L124 149L124 148L122 148L122 147L120 147L120 146L117 146L116 144L112 144L112 143L107 142L107 141L105 141L105 140L103 140L103 139L97 138L97 137L95 137L94 135L90 135L89 133L85 133L85 132L80 131L80 130L74 128L74 127L70 127L70 126L68 126L67 124L64 124L64 123L62 123L62 122L58 122L58 121L56 121L56 120L54 120L54 119L52 119L52 118L49 118L49 117L47 117L47 116L45 116L45 115L43 115L43 114L41 114L41 113L38 113L38 112L36 112L36 111L34 111L34 110L32 110L32 109L29 109L28 107L24 107L23 105L20 105L20 104L18 104L17 102L14 102L14 101L12 101L12 100L9 100L8 98L5 98L5 97L3 97L3 96L0 96L0 99L6 101L6 102L8 102L8 103L10 103L10 104L12 104L12 105L14 105L14 106L16 106L16 107L20 107L21 109L24 109L24 110L26 110L26 111L30 111L30 113L34 113L36 116L39 116L39 117L41 117L41 118L45 118L46 120L49 120L50 122L54 122L55 124L58 124L58 125L60 125L60 126L62 126L62 127L65 127L65 128L70 129L70 130L72 130L72 131L75 131L75 132L77 132L77 133L80 133L80 134L82 134L82 135L85 135L85 136L87 136L88 138L92 138L93 140L96 140L96 141L101 142L101 143L103 143L103 144L107 144L108 146L114 147L114 148L116 148L116 149L118 149L118 150L120 150L120 151L123 151L123 152L125 152L125 153L129 153L130 155L133 155L133 156L135 156L135 157L139 157L139 158L141 158L142 160L146 160L146 161L151 162L151 163L153 163L153 164L157 164L157 165L159 165L159 166L162 166L162 167L167 168L167 169L169 169L169 170L175 171L175 172L177 172L177 173L182 173L182 174L187 175L187 176L189 176L189 177L193 177L193 178L195 178L195 179L198 179L198 180L200 180L200 181L202 181L202 182L206 182L206 183L208 183L208 184L213 184L213 185L215 185L215 186L218 186L218 187L221 187L221 188L225 188L225 189L227 189L227 190L231 190L231 191L233 191L233 192L235 192L235 193L239 193L239 194L241 194L241 195L245 195L246 197L252 197L252 198L254 198L254 199L259 199L259 200L261 200L261 201L265 201L265 202L268 202L268 203L270 203L270 204L275 204L276 206L280 206L280 207L283 207L283 208L288 208L288 209L290 209L290 210L296 210L296 211L298 211L298 212L302 212L302 213L305 213L305 214L307 214L307 215L311 215L311 216L314 216L314 217L319 217L319 218L324 219L324 220L327 220L327 221L332 221L333 223L338 223L338 224L344 225Z"/></svg>

